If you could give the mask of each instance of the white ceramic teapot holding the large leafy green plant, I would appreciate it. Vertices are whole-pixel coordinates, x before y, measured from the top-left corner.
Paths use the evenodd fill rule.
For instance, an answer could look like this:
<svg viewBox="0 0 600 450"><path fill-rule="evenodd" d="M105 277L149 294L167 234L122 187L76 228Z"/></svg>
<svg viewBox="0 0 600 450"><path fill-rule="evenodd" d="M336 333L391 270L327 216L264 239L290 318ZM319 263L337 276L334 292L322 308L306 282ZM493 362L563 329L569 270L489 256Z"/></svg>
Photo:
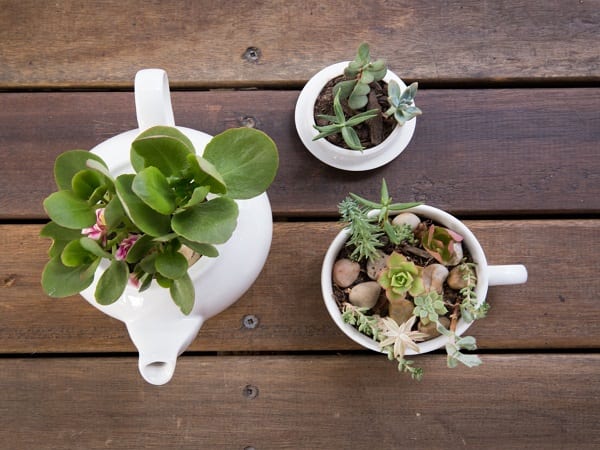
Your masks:
<svg viewBox="0 0 600 450"><path fill-rule="evenodd" d="M133 140L155 125L174 126L167 74L160 69L139 71L135 77L135 104L139 128L119 134L94 147L113 176L131 173L129 162ZM177 127L202 153L211 136L191 128ZM202 257L189 269L196 299L185 316L173 303L169 290L155 282L144 292L128 285L112 305L96 302L94 291L108 264L98 268L94 282L81 292L93 306L127 325L139 351L139 370L146 381L164 384L173 376L177 357L191 344L204 321L239 299L254 283L271 246L273 220L266 193L249 200L236 200L238 224L232 237L217 245L219 256Z"/></svg>

